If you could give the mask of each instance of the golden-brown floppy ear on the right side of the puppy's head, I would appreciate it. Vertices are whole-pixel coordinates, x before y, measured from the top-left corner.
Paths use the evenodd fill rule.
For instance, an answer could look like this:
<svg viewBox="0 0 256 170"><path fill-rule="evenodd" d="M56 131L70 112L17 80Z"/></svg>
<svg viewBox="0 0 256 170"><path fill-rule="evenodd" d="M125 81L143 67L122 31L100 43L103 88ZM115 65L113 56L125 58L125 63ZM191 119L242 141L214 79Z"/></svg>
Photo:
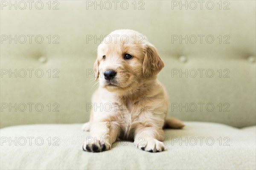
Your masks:
<svg viewBox="0 0 256 170"><path fill-rule="evenodd" d="M145 57L143 60L143 75L146 78L157 75L164 67L163 60L157 53L157 49L150 43L145 45Z"/></svg>

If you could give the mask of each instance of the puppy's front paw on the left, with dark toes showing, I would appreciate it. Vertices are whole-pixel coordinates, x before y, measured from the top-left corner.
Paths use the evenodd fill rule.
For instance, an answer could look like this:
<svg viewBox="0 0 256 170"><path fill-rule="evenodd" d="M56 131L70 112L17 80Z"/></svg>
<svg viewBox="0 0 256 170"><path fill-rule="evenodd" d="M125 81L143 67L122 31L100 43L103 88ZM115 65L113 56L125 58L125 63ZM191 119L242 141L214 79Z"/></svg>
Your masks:
<svg viewBox="0 0 256 170"><path fill-rule="evenodd" d="M111 149L111 144L104 143L102 140L86 141L83 143L83 150L88 152L103 152Z"/></svg>

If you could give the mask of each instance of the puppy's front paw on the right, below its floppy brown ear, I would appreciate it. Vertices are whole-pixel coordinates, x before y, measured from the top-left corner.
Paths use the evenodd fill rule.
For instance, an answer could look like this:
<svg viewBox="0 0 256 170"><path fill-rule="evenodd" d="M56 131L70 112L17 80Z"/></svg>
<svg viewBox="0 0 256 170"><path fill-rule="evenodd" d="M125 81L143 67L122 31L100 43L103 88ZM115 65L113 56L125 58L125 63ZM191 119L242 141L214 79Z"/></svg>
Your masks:
<svg viewBox="0 0 256 170"><path fill-rule="evenodd" d="M137 144L137 147L141 150L148 152L162 152L164 151L163 142L158 141L157 139L147 139L143 142Z"/></svg>

